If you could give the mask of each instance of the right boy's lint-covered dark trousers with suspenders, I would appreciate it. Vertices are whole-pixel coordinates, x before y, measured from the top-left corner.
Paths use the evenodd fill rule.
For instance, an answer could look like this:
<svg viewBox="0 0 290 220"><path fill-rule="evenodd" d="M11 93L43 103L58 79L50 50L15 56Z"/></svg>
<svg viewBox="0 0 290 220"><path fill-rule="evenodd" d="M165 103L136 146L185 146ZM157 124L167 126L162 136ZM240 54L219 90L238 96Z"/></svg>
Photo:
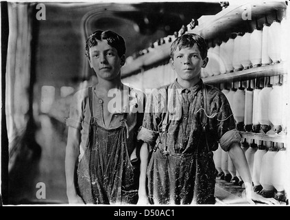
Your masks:
<svg viewBox="0 0 290 220"><path fill-rule="evenodd" d="M202 87L204 109L208 112L206 88ZM200 135L195 146L186 153L176 153L173 144L167 145L168 112L147 168L148 195L154 204L215 203L215 164L207 143L207 117L196 122Z"/></svg>

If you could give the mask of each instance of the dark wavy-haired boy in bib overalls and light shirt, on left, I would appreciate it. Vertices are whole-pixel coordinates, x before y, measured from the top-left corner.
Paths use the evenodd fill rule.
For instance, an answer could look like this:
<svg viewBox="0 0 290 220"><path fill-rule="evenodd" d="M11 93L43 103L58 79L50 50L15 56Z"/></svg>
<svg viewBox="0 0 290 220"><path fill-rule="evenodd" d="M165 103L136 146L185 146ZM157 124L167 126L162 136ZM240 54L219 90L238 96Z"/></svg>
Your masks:
<svg viewBox="0 0 290 220"><path fill-rule="evenodd" d="M86 56L99 83L77 91L71 102L65 159L69 203L136 203L136 136L144 104L143 94L121 83L125 41L97 30L86 41Z"/></svg>

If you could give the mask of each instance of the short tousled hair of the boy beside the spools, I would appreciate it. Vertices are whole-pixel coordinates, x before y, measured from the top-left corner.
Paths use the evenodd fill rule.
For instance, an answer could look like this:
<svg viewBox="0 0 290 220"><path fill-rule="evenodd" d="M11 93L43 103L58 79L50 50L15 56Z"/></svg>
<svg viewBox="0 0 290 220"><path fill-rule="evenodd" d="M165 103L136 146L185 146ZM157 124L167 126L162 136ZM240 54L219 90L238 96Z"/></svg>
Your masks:
<svg viewBox="0 0 290 220"><path fill-rule="evenodd" d="M178 38L173 41L170 48L170 57L173 59L177 47L181 50L183 47L193 47L194 45L197 45L198 50L200 50L202 59L208 56L208 45L204 38L198 34L186 33L182 34L182 36L178 36Z"/></svg>

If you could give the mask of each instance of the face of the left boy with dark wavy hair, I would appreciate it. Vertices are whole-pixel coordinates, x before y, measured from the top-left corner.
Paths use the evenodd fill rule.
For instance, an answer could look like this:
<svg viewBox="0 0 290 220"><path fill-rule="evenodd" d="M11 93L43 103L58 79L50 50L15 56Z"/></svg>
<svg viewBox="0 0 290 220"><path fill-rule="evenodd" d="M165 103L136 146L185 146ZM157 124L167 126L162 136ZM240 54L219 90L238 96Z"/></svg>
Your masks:
<svg viewBox="0 0 290 220"><path fill-rule="evenodd" d="M97 45L90 47L90 67L93 68L99 78L112 80L119 76L121 66L125 63L125 56L121 58L117 50L108 45L107 40L98 41Z"/></svg>

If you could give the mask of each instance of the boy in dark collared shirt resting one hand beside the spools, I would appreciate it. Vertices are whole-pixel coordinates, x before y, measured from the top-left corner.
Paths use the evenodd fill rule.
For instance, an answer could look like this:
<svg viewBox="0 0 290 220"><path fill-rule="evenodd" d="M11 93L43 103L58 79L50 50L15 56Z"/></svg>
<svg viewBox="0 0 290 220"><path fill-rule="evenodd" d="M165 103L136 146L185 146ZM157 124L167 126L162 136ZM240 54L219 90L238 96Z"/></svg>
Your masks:
<svg viewBox="0 0 290 220"><path fill-rule="evenodd" d="M253 192L228 100L200 78L208 63L204 39L183 34L172 43L170 55L177 79L149 95L138 133L138 139L145 142L141 147L138 203L215 203L212 151L218 142L245 182L247 199L275 203Z"/></svg>

